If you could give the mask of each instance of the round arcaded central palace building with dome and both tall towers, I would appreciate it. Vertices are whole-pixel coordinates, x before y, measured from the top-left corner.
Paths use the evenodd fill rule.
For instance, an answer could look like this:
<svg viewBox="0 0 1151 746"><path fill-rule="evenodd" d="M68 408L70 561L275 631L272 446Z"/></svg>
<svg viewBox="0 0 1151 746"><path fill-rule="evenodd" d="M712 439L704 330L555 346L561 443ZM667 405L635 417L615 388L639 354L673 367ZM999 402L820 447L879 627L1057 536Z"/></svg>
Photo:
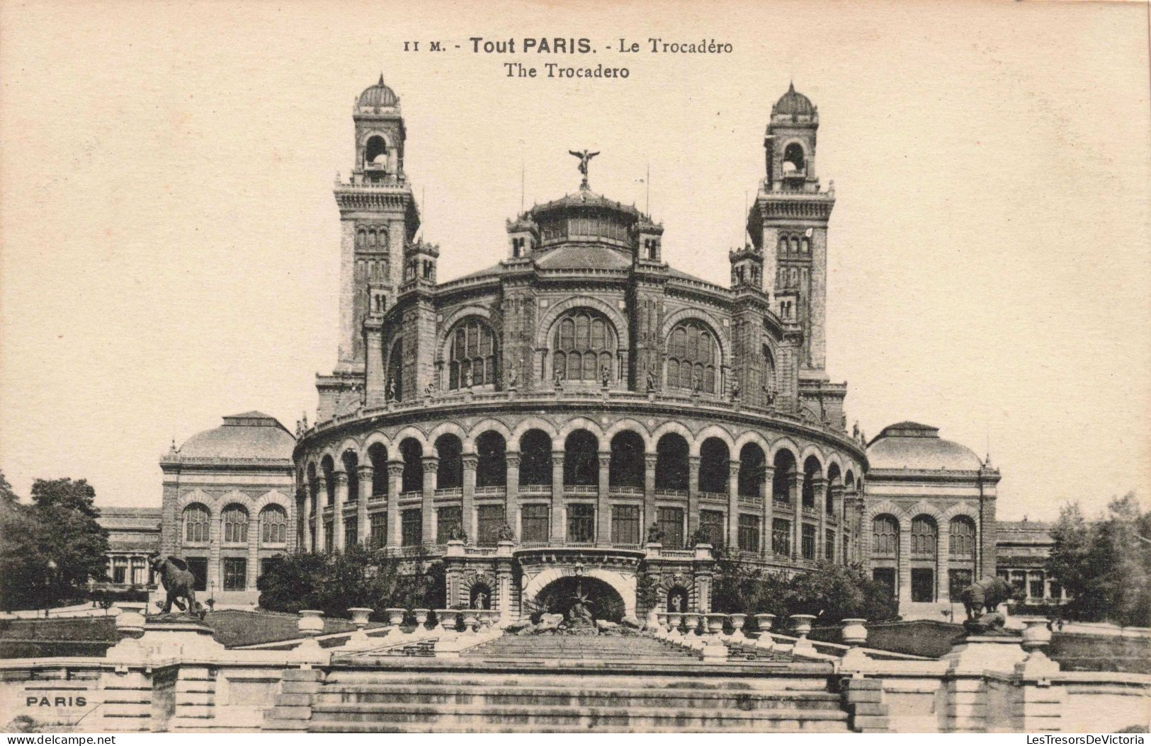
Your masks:
<svg viewBox="0 0 1151 746"><path fill-rule="evenodd" d="M442 557L448 606L505 621L573 576L643 615L641 562L656 605L708 612L719 547L785 571L863 559L868 456L825 371L834 193L806 97L772 108L726 286L670 267L664 226L593 191L587 151L574 192L506 222L501 261L440 283L382 78L352 120L338 362L294 453L299 547Z"/></svg>

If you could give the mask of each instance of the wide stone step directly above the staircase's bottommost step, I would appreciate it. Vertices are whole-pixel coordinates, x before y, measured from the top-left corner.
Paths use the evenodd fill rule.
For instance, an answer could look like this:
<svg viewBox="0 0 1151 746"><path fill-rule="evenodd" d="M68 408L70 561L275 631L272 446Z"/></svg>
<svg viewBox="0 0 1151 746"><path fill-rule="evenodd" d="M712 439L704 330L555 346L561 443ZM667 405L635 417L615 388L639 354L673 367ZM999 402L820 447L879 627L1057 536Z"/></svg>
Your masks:
<svg viewBox="0 0 1151 746"><path fill-rule="evenodd" d="M328 684L320 703L547 705L761 710L839 710L830 692L763 692L687 687L572 689L534 685Z"/></svg>

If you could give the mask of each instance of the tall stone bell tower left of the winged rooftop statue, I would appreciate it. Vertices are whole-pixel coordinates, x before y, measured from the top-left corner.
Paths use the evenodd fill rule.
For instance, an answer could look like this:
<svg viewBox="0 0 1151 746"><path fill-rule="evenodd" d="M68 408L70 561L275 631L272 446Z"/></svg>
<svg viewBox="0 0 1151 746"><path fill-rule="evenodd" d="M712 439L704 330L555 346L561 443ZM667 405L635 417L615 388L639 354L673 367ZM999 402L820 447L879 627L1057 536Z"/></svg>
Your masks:
<svg viewBox="0 0 1151 746"><path fill-rule="evenodd" d="M363 374L364 322L396 302L404 282L404 249L420 225L404 175L406 131L399 98L380 82L352 108L356 163L337 179L340 207L340 360L336 374Z"/></svg>

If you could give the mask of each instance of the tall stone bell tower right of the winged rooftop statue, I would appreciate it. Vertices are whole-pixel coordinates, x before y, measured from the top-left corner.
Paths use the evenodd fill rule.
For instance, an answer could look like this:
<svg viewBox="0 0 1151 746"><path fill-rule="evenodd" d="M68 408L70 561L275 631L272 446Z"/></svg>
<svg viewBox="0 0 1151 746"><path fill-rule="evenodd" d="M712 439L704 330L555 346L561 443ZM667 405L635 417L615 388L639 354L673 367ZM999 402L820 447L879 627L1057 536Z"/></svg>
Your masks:
<svg viewBox="0 0 1151 746"><path fill-rule="evenodd" d="M762 251L778 315L800 325L800 369L825 368L828 220L834 189L824 192L815 171L820 114L792 85L771 107L763 147L767 177L748 215L748 233Z"/></svg>

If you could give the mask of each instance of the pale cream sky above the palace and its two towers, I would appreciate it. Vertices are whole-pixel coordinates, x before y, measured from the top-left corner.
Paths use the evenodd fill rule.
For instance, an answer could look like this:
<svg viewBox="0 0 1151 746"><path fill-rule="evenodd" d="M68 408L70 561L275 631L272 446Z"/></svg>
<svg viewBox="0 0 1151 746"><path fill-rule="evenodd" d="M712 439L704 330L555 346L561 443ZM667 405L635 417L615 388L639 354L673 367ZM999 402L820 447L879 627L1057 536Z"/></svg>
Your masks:
<svg viewBox="0 0 1151 746"><path fill-rule="evenodd" d="M505 218L574 191L586 147L593 189L649 201L666 261L726 284L794 80L836 185L828 371L848 421L990 451L1003 518L1145 499L1148 29L1145 3L0 3L0 469L24 495L84 477L98 506L158 507L173 439L250 409L314 418L337 345L331 185L381 71L441 280L504 257Z"/></svg>

